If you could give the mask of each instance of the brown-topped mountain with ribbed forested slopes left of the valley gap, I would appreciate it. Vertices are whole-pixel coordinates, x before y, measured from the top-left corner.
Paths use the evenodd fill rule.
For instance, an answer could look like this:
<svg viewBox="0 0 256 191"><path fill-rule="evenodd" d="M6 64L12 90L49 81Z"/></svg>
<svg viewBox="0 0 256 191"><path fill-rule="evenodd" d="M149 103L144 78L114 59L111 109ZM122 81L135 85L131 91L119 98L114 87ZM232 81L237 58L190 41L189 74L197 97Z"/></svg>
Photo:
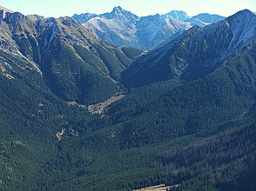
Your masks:
<svg viewBox="0 0 256 191"><path fill-rule="evenodd" d="M98 102L118 93L120 73L140 54L102 42L70 17L8 12L0 28L1 48L35 65L52 92L69 102Z"/></svg>

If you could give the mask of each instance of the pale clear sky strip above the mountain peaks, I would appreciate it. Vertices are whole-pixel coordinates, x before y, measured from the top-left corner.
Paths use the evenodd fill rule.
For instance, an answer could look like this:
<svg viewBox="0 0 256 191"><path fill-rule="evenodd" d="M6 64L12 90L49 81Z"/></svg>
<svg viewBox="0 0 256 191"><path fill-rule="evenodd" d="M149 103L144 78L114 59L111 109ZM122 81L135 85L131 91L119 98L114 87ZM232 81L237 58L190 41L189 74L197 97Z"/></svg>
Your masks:
<svg viewBox="0 0 256 191"><path fill-rule="evenodd" d="M114 6L138 16L184 10L193 16L208 12L230 16L239 10L256 11L256 0L0 0L0 5L24 15L72 16L84 12L110 12Z"/></svg>

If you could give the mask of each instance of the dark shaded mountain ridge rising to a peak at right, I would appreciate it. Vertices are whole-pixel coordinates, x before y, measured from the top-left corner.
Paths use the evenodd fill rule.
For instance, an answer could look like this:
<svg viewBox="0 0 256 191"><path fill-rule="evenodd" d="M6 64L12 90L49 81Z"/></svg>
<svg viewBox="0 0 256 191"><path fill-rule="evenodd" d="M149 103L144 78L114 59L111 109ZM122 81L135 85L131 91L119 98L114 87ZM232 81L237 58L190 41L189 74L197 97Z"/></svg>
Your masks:
<svg viewBox="0 0 256 191"><path fill-rule="evenodd" d="M249 10L201 28L192 27L171 43L140 57L125 70L131 86L169 79L192 80L219 67L227 56L255 42L256 16ZM250 49L250 48L248 48Z"/></svg>

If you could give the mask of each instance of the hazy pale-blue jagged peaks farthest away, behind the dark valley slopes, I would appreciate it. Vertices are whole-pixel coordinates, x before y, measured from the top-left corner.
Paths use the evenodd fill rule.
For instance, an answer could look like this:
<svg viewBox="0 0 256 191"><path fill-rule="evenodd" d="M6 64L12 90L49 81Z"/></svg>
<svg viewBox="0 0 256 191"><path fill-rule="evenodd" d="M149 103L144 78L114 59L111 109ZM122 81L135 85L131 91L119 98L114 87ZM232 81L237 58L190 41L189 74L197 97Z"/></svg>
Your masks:
<svg viewBox="0 0 256 191"><path fill-rule="evenodd" d="M104 41L116 46L136 49L155 49L177 32L219 21L223 16L205 15L190 17L184 11L172 10L165 15L136 16L121 7L111 13L95 15L85 13L72 16L83 23ZM200 20L202 19L202 21Z"/></svg>

